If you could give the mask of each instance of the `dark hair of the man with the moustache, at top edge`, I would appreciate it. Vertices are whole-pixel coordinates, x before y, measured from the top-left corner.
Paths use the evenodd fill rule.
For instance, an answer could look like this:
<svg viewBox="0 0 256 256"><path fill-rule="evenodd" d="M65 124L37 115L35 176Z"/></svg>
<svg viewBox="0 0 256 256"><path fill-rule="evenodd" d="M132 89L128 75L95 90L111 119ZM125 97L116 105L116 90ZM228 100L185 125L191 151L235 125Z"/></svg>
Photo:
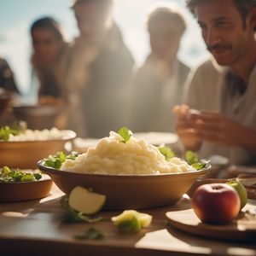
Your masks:
<svg viewBox="0 0 256 256"><path fill-rule="evenodd" d="M187 7L192 14L195 15L195 7L201 3L211 2L212 0L187 0ZM256 8L256 0L233 0L238 11L241 14L242 20L246 20L251 9ZM255 27L254 27L255 30Z"/></svg>

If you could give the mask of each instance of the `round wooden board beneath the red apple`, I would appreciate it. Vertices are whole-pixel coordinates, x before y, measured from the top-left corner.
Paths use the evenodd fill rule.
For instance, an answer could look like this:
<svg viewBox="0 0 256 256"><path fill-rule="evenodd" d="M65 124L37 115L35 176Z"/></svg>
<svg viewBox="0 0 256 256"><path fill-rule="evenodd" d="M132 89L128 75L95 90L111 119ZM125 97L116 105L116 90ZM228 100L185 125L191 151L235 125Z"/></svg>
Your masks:
<svg viewBox="0 0 256 256"><path fill-rule="evenodd" d="M192 208L166 212L166 216L173 227L198 236L230 241L256 241L256 201L247 203L230 224L203 224Z"/></svg>

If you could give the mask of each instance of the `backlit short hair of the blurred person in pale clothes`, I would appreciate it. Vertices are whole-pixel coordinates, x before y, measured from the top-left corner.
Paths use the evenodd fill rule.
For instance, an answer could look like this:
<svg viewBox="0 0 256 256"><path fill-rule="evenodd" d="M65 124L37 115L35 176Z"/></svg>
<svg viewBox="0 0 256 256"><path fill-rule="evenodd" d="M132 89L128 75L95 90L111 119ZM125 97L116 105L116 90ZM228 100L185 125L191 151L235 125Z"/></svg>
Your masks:
<svg viewBox="0 0 256 256"><path fill-rule="evenodd" d="M186 21L183 18L181 12L172 6L159 6L152 9L148 14L147 26L148 30L158 20L172 20L177 26L179 26L181 33L186 30Z"/></svg>

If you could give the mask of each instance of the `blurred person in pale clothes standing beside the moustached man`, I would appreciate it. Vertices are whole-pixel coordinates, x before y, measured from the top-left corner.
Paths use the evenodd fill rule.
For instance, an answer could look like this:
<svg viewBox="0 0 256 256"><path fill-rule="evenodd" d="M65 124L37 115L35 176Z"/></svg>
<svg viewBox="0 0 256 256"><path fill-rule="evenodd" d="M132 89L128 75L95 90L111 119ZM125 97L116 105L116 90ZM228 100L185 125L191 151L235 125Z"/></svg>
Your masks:
<svg viewBox="0 0 256 256"><path fill-rule="evenodd" d="M176 6L161 5L149 12L147 28L151 52L132 80L131 127L170 132L174 122L168 117L182 102L189 73L189 67L177 59L186 23Z"/></svg>

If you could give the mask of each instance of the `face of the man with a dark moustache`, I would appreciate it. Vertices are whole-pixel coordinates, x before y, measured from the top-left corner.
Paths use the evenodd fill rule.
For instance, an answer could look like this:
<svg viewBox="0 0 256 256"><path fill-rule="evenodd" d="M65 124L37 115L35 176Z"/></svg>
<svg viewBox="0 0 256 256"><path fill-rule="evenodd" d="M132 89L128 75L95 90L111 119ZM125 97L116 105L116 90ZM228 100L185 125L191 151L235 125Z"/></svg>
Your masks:
<svg viewBox="0 0 256 256"><path fill-rule="evenodd" d="M212 0L199 4L195 15L207 49L219 65L232 66L246 55L253 29L245 24L233 0Z"/></svg>

